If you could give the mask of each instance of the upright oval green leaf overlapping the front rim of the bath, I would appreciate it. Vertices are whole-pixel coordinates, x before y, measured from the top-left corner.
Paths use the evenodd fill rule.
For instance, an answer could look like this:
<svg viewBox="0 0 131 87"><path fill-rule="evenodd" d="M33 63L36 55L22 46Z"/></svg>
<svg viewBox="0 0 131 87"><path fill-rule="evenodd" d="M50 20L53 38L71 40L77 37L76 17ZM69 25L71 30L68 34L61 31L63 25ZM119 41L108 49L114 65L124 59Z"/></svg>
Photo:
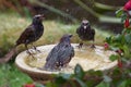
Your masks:
<svg viewBox="0 0 131 87"><path fill-rule="evenodd" d="M82 79L84 77L85 73L80 64L76 64L76 66L74 69L74 74L78 78Z"/></svg>

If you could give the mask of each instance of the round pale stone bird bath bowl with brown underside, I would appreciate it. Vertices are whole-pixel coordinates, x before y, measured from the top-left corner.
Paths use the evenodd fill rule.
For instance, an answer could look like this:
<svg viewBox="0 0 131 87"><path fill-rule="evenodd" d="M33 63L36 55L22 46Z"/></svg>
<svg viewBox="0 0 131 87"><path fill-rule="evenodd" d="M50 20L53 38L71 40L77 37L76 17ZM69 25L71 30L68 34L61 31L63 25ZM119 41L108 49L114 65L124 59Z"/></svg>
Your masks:
<svg viewBox="0 0 131 87"><path fill-rule="evenodd" d="M28 55L26 51L21 52L16 59L16 66L27 75L29 75L35 82L40 82L45 84L48 80L51 80L52 74L66 73L73 74L74 66L79 63L84 71L88 70L109 70L117 65L117 61L111 62L109 60L109 55L112 54L112 51L104 50L102 46L96 46L95 49L91 49L90 46L83 46L82 49L79 49L78 44L72 44L74 47L75 55L72 58L69 65L61 71L58 72L47 72L41 71L38 67L43 67L45 64L46 57L48 52L56 45L47 45L37 47L40 52L35 53L34 57L37 59L33 59L32 55ZM31 51L34 51L31 49Z"/></svg>

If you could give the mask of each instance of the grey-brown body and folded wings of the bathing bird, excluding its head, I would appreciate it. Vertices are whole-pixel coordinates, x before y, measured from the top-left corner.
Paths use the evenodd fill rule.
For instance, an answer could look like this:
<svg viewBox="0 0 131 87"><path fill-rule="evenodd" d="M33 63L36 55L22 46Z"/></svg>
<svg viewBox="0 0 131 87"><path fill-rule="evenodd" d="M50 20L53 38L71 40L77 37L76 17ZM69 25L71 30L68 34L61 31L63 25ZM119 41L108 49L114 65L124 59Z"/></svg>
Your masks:
<svg viewBox="0 0 131 87"><path fill-rule="evenodd" d="M57 45L46 59L45 69L56 70L57 66L64 65L74 57L74 49L71 45Z"/></svg>

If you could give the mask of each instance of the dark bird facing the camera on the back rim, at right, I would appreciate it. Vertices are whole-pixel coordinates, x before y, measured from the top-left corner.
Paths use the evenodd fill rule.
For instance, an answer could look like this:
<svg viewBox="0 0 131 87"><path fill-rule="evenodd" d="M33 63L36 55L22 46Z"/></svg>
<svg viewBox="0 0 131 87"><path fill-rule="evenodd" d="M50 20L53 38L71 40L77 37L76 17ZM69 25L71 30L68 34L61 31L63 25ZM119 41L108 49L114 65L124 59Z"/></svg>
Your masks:
<svg viewBox="0 0 131 87"><path fill-rule="evenodd" d="M81 26L76 29L76 34L80 39L83 41L93 40L92 48L95 48L95 29L91 28L90 22L87 20L83 20ZM82 48L83 42L80 42L79 48Z"/></svg>

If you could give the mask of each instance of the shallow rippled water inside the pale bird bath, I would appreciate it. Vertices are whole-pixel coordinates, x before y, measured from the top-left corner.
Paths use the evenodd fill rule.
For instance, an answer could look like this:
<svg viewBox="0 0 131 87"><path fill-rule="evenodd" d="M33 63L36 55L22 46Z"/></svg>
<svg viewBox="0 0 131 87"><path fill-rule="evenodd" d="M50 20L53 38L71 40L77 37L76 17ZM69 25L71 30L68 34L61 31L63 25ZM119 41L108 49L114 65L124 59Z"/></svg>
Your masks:
<svg viewBox="0 0 131 87"><path fill-rule="evenodd" d="M46 62L46 57L53 46L55 45L39 47L38 49L40 50L40 53L34 54L36 59L33 59L31 55L26 55L24 58L25 63L31 67L43 67ZM114 53L112 51L105 51L100 46L96 46L95 49L92 49L90 46L83 46L82 49L79 49L76 46L76 44L73 44L75 55L72 58L69 65L57 72L73 73L74 66L78 63L83 67L84 71L92 69L105 70L117 64L117 62L111 62L109 60L109 55Z"/></svg>

